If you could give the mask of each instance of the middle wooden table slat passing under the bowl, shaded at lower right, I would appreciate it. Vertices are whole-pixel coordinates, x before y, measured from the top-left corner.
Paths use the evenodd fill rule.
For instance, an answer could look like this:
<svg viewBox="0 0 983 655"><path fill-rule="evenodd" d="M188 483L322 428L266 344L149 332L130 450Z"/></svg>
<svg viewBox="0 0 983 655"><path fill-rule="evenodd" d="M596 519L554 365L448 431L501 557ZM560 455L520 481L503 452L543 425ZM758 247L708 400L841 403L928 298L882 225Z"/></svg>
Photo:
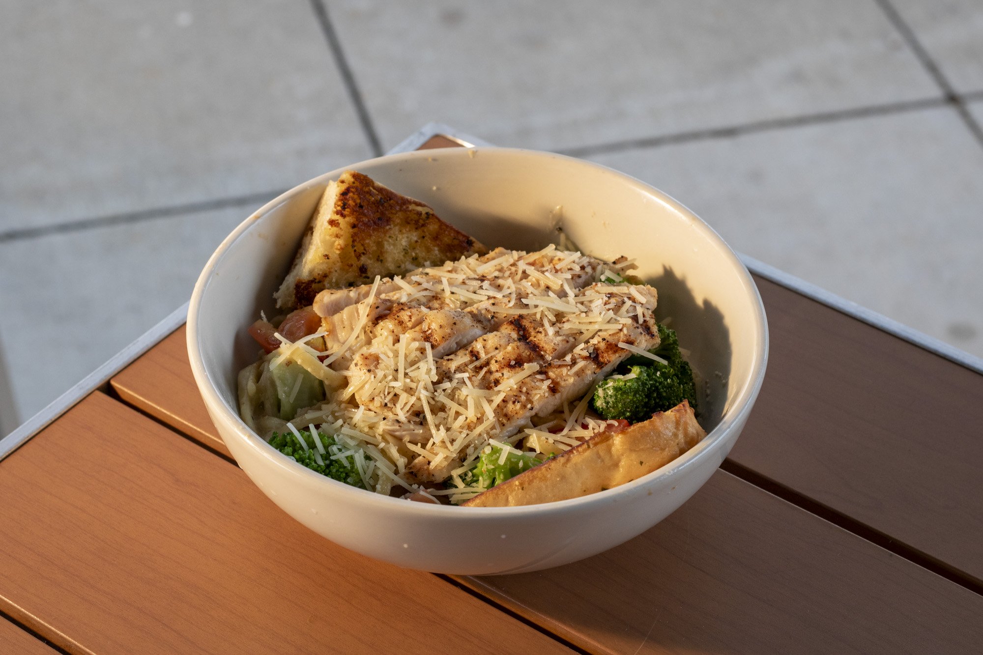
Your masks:
<svg viewBox="0 0 983 655"><path fill-rule="evenodd" d="M145 359L174 362L181 352L179 330ZM142 361L114 387L136 396ZM207 421L196 393L171 387L170 396L154 395L153 407ZM808 635L877 650L875 637L887 647L918 643L921 634L971 650L967 643L983 636L967 614L983 612L980 596L723 472L653 530L606 554L537 573L459 579L596 652L633 652L650 628L653 649L795 650ZM739 638L720 641L735 630Z"/></svg>

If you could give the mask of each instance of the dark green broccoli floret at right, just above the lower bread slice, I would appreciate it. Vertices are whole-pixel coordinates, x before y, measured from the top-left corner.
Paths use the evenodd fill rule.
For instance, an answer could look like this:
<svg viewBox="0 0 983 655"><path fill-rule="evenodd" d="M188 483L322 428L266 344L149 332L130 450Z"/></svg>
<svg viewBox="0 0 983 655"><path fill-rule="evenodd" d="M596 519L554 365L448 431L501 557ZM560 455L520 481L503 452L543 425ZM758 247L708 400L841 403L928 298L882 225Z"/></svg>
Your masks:
<svg viewBox="0 0 983 655"><path fill-rule="evenodd" d="M638 423L684 399L696 409L693 369L679 352L675 331L660 325L659 338L659 347L650 352L665 359L666 364L635 355L626 360L617 375L598 385L591 406L603 418ZM628 379L624 378L626 375Z"/></svg>

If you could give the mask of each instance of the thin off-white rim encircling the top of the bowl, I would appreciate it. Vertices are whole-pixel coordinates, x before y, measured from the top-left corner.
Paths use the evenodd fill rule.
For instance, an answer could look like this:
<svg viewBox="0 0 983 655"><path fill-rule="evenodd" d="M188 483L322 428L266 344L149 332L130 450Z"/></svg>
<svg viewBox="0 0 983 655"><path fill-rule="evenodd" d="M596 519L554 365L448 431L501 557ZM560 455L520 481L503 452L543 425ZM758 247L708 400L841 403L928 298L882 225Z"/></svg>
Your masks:
<svg viewBox="0 0 983 655"><path fill-rule="evenodd" d="M326 184L331 179L337 178L338 175L346 170L358 170L360 167L379 162L411 162L415 160L426 161L428 158L433 158L434 154L436 153L439 153L441 156L450 155L470 157L474 156L474 152L469 153L469 151L475 150L487 152L492 156L560 159L565 160L568 164L599 169L608 175L620 179L628 186L633 186L637 190L649 194L661 204L665 205L671 210L676 211L678 214L686 218L695 229L704 232L705 235L710 237L711 241L716 241L717 245L721 247L724 258L729 261L729 263L735 269L735 272L740 276L742 286L748 293L748 296L754 305L754 327L756 331L756 338L752 358L753 374L751 379L746 381L743 387L738 390L738 393L734 396L730 407L723 412L721 422L713 430L707 433L707 436L704 437L699 444L690 448L683 454L679 455L655 471L652 471L651 473L623 485L594 494L588 494L587 496L529 506L468 507L465 509L460 506L445 506L430 503L408 503L402 499L382 496L381 494L376 494L375 492L359 489L357 487L352 487L342 482L332 480L331 478L325 477L319 474L317 471L313 471L299 462L282 455L275 448L269 446L265 440L263 440L246 425L242 418L240 418L237 411L233 411L229 408L224 398L218 393L215 381L209 375L207 368L204 366L201 353L201 343L198 335L198 315L202 307L202 295L207 288L213 271L221 264L225 255L234 247L236 242L243 236L243 234L250 227L252 227L254 223L260 221L273 209L280 207L284 203L307 192L315 186ZM219 414L218 417L213 419L214 422L224 422L225 426L231 429L231 432L244 447L254 450L262 458L266 459L268 463L280 468L284 473L299 477L302 480L307 480L315 485L327 485L326 489L330 489L332 491L332 495L348 497L352 500L352 502L359 505L376 505L380 509L399 510L410 515L425 515L431 517L454 516L459 520L473 521L497 519L506 516L528 516L531 514L541 514L543 512L565 513L577 511L589 506L608 505L611 503L616 503L621 497L631 494L631 492L636 490L638 487L655 484L657 480L665 481L667 479L684 475L690 468L696 467L698 462L701 462L707 457L713 456L713 452L722 447L724 437L726 437L735 426L741 425L746 416L750 413L754 401L756 400L762 384L764 383L765 371L768 365L769 330L761 294L758 291L758 287L754 283L753 278L751 277L751 273L740 261L740 258L737 257L733 249L730 248L730 246L723 240L720 234L714 230L713 227L707 224L694 211L685 207L683 204L679 203L665 192L646 182L632 177L631 175L605 166L604 164L579 159L577 157L535 149L473 147L413 150L410 152L399 152L365 159L363 161L336 168L318 175L317 177L280 194L254 211L239 225L237 225L236 228L229 233L227 237L225 237L225 239L222 240L221 244L219 244L219 246L215 249L211 257L208 258L204 268L202 268L202 273L199 275L199 278L195 283L191 301L188 307L187 344L189 360L196 385L202 394L205 404L208 406L209 413L217 411Z"/></svg>

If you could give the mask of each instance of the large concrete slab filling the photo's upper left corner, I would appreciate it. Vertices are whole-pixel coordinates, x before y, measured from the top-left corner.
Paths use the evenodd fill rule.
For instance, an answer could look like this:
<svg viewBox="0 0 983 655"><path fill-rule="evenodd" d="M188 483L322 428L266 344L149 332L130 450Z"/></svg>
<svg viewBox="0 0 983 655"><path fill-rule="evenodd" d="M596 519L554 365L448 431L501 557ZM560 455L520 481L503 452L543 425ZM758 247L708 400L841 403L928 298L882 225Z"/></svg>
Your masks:
<svg viewBox="0 0 983 655"><path fill-rule="evenodd" d="M306 2L4 3L0 232L372 156Z"/></svg>

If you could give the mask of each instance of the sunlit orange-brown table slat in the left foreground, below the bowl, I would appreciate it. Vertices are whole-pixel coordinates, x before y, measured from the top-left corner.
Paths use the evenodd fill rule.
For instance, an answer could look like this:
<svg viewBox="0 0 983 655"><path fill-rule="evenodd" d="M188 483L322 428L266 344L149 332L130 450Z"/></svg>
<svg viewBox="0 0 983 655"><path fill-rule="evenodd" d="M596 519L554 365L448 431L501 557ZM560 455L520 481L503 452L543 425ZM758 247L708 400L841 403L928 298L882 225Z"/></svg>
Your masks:
<svg viewBox="0 0 983 655"><path fill-rule="evenodd" d="M0 462L0 609L73 652L569 652L95 392Z"/></svg>

